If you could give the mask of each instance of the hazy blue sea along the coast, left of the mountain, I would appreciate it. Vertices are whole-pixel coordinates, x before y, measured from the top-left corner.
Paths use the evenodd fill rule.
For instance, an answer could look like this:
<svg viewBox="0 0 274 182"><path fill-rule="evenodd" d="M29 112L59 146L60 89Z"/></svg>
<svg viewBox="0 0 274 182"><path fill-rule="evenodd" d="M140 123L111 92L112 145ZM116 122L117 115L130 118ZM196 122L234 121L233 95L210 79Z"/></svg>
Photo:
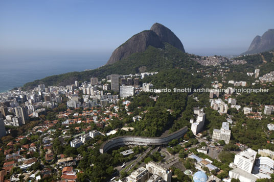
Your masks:
<svg viewBox="0 0 274 182"><path fill-rule="evenodd" d="M1 53L0 93L43 77L95 69L106 64L109 53Z"/></svg>

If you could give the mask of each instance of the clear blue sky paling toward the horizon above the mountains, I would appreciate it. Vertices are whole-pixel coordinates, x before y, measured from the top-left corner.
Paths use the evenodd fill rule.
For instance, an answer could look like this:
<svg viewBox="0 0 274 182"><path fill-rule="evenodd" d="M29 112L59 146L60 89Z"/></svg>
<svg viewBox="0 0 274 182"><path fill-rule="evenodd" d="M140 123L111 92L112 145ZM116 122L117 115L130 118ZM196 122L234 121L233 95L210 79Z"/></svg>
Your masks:
<svg viewBox="0 0 274 182"><path fill-rule="evenodd" d="M0 51L110 54L155 22L188 53L240 54L274 29L274 1L0 1Z"/></svg>

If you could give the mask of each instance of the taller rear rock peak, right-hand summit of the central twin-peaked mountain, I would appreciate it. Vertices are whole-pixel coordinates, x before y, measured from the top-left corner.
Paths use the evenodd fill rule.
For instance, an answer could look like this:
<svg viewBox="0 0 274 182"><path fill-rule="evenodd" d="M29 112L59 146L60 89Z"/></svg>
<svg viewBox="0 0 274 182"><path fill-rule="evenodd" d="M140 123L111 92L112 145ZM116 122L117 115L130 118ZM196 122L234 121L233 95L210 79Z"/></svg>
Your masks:
<svg viewBox="0 0 274 182"><path fill-rule="evenodd" d="M180 39L163 24L154 23L150 30L155 32L162 42L167 42L185 53L184 46L182 45Z"/></svg>

